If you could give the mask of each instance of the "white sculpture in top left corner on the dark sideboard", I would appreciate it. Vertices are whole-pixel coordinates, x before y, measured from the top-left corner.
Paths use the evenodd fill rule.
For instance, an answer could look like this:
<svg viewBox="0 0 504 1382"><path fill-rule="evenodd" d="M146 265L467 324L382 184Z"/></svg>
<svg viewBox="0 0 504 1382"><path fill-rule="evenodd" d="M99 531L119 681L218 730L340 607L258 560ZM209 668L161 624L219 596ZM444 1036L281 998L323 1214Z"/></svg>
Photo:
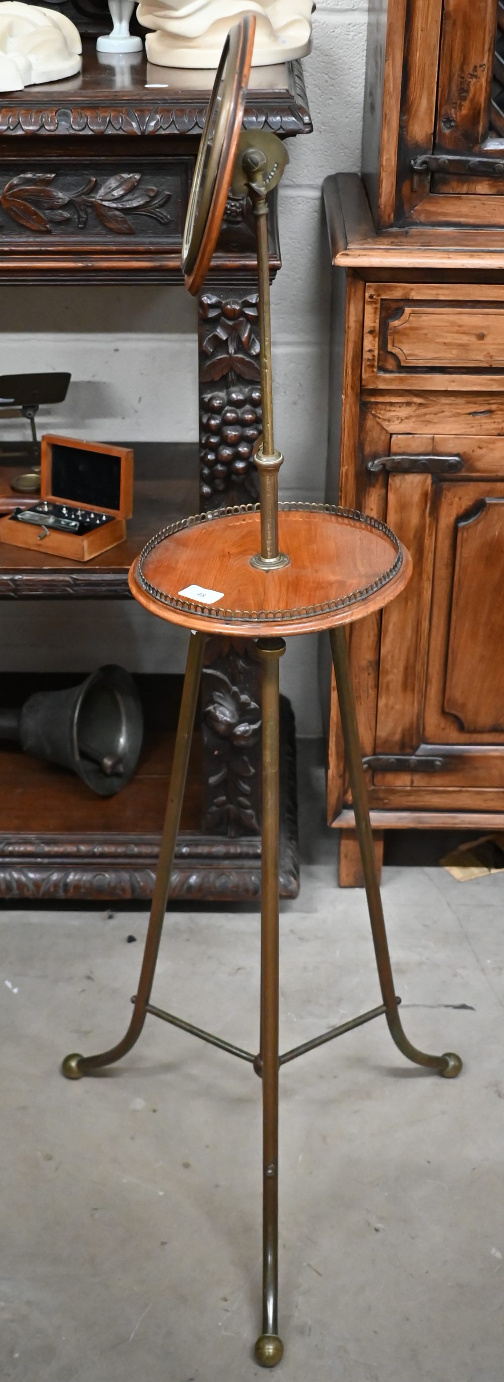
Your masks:
<svg viewBox="0 0 504 1382"><path fill-rule="evenodd" d="M0 91L59 82L80 72L81 41L58 10L4 0L0 4Z"/></svg>

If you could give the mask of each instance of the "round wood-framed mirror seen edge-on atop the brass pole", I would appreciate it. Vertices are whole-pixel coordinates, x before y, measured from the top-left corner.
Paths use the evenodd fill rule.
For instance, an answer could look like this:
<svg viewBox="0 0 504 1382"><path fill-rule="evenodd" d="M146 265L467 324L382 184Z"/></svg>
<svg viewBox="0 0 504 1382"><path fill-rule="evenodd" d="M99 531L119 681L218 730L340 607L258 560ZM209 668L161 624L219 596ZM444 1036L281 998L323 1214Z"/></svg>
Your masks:
<svg viewBox="0 0 504 1382"><path fill-rule="evenodd" d="M199 293L214 253L242 131L255 17L229 29L217 68L191 187L182 240L182 272L189 293Z"/></svg>

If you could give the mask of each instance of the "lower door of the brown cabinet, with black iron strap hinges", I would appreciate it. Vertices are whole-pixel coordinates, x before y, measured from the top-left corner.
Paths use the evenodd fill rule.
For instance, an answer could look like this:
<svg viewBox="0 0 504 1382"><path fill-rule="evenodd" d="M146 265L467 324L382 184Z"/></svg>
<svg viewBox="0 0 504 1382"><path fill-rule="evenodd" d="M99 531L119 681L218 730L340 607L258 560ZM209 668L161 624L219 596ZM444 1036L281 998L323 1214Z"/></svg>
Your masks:
<svg viewBox="0 0 504 1382"><path fill-rule="evenodd" d="M388 478L387 522L413 556L381 626L374 752L403 763L371 768L370 802L388 810L504 808L504 438L452 441L467 478ZM391 452L427 444L446 438L392 437ZM475 451L489 475L474 478Z"/></svg>

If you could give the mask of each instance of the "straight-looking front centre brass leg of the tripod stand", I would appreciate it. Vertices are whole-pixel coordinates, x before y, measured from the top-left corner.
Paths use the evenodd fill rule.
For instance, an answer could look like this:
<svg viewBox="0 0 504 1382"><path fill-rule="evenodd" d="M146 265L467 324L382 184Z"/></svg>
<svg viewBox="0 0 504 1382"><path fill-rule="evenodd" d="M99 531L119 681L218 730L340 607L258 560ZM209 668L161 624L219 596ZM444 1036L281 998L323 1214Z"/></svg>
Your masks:
<svg viewBox="0 0 504 1382"><path fill-rule="evenodd" d="M283 638L260 638L262 662L261 846L261 1050L262 1075L262 1334L255 1361L273 1368L283 1356L278 1334L278 1130L279 1130L279 662Z"/></svg>

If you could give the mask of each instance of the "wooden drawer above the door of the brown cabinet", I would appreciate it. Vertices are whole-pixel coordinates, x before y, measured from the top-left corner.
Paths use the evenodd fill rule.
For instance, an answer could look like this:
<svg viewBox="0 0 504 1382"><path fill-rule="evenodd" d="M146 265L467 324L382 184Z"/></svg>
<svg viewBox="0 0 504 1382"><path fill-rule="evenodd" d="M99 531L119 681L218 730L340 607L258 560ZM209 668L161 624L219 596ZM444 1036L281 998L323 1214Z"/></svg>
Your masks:
<svg viewBox="0 0 504 1382"><path fill-rule="evenodd" d="M504 287L369 283L362 381L371 388L504 387Z"/></svg>

